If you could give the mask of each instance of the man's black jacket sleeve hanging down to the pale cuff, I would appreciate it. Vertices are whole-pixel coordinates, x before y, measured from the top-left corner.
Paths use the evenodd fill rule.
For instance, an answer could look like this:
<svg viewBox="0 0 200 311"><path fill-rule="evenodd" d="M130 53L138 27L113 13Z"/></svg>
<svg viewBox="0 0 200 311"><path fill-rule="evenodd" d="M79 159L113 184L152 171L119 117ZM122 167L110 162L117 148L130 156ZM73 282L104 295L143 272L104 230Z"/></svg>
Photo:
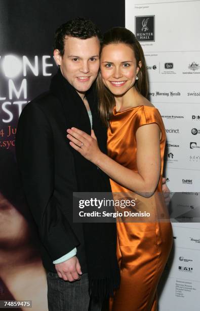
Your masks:
<svg viewBox="0 0 200 311"><path fill-rule="evenodd" d="M23 109L16 133L16 157L22 185L41 242L56 260L79 242L62 214L54 186L54 140L51 125L34 102Z"/></svg>

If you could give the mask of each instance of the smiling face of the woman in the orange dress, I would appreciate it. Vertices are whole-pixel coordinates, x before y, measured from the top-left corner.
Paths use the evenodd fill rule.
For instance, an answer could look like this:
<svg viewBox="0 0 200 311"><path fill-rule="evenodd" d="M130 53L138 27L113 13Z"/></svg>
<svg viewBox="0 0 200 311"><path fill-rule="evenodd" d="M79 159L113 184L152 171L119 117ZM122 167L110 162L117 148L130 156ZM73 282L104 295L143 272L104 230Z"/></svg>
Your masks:
<svg viewBox="0 0 200 311"><path fill-rule="evenodd" d="M103 47L100 59L101 77L114 96L124 95L135 84L141 62L137 61L132 48L124 43Z"/></svg>

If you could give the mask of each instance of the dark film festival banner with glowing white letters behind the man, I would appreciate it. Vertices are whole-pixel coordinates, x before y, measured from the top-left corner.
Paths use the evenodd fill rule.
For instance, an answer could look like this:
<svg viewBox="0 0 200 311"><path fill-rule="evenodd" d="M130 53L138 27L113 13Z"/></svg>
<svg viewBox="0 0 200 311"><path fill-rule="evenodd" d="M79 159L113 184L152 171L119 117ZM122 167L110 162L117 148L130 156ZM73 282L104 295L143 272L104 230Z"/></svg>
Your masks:
<svg viewBox="0 0 200 311"><path fill-rule="evenodd" d="M124 1L0 2L0 300L32 300L32 311L48 310L47 285L17 171L16 127L22 109L48 90L57 71L56 28L77 16L92 19L102 32L124 26Z"/></svg>

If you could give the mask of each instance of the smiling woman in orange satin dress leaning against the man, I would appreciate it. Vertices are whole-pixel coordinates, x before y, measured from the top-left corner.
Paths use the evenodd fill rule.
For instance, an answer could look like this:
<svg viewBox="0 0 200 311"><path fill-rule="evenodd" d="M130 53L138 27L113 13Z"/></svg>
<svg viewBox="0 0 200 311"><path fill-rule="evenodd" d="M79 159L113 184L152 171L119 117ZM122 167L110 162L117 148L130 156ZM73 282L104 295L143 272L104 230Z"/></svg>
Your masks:
<svg viewBox="0 0 200 311"><path fill-rule="evenodd" d="M70 145L110 177L113 193L132 194L148 222L117 222L121 286L112 311L156 310L156 288L172 246L172 227L162 194L166 134L158 110L147 100L144 54L126 28L109 30L101 46L97 80L100 114L108 123L108 156L94 132L68 130ZM161 219L163 219L161 221Z"/></svg>

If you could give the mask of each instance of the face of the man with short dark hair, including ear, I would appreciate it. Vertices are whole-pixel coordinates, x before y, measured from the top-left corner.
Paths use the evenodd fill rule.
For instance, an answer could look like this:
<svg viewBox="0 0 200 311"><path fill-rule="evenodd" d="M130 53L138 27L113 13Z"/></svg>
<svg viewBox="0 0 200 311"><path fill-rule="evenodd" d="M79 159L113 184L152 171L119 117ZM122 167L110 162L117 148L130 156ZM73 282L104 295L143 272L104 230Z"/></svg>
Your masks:
<svg viewBox="0 0 200 311"><path fill-rule="evenodd" d="M79 39L66 37L64 55L54 50L57 65L62 75L83 97L95 81L99 71L100 44L97 37Z"/></svg>

